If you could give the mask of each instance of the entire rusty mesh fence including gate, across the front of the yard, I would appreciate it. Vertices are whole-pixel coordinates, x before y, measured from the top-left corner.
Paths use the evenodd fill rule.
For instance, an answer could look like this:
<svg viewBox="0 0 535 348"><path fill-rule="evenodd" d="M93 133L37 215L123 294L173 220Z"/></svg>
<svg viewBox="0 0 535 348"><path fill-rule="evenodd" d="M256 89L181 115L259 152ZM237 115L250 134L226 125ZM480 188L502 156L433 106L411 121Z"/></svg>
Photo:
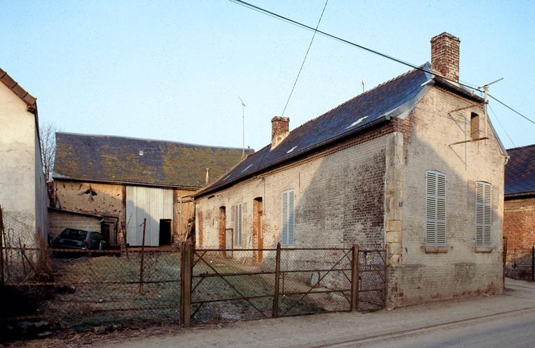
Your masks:
<svg viewBox="0 0 535 348"><path fill-rule="evenodd" d="M210 323L385 306L385 251L1 248L3 322ZM358 256L357 256L358 255ZM186 319L187 318L187 319Z"/></svg>

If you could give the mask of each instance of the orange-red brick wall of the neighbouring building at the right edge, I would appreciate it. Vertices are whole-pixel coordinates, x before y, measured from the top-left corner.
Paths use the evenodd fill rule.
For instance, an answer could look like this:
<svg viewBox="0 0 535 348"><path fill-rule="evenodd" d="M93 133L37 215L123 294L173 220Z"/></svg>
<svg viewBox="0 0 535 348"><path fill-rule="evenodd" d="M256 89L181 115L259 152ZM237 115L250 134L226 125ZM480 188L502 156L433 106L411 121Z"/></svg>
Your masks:
<svg viewBox="0 0 535 348"><path fill-rule="evenodd" d="M531 279L532 248L535 244L535 197L505 200L504 236L507 238L507 276Z"/></svg>

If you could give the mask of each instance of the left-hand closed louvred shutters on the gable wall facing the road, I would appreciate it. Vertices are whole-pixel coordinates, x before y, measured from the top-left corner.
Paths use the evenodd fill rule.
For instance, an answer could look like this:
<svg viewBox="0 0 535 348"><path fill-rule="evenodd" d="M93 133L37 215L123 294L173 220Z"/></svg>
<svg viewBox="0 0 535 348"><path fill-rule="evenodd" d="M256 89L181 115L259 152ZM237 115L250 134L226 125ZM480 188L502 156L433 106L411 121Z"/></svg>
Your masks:
<svg viewBox="0 0 535 348"><path fill-rule="evenodd" d="M426 245L446 246L446 175L426 172Z"/></svg>

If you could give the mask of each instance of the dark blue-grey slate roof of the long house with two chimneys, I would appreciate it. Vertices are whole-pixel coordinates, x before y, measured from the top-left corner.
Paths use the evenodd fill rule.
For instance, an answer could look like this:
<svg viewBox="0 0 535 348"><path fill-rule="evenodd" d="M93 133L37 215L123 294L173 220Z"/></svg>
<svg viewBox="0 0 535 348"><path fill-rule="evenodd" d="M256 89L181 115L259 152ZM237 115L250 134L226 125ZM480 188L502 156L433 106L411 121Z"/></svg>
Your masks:
<svg viewBox="0 0 535 348"><path fill-rule="evenodd" d="M431 65L426 63L421 68L429 71ZM417 69L391 79L293 129L276 148L265 146L192 196L199 197L217 191L327 143L357 134L391 117L403 117L434 83L430 73Z"/></svg>

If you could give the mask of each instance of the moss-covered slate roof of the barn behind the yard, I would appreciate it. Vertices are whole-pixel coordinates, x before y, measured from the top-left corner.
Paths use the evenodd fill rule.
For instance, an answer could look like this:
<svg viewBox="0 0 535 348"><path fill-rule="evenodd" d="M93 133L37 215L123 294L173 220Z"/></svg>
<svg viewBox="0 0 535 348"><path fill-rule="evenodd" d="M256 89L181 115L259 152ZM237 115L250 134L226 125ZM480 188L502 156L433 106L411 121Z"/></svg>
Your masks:
<svg viewBox="0 0 535 348"><path fill-rule="evenodd" d="M53 177L199 189L206 168L215 179L241 156L240 148L58 132Z"/></svg>

